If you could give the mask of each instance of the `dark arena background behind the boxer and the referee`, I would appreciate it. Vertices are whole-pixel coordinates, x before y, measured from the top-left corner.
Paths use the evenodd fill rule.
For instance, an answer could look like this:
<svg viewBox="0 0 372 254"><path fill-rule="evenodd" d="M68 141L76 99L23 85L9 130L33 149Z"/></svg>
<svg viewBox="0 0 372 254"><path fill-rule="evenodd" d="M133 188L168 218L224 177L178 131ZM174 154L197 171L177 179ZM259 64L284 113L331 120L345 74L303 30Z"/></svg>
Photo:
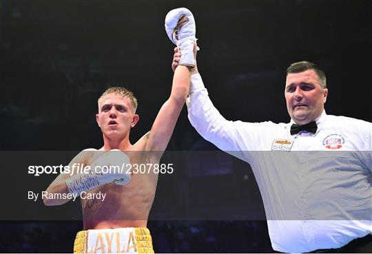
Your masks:
<svg viewBox="0 0 372 254"><path fill-rule="evenodd" d="M328 114L371 122L371 3L1 0L1 153L12 152L8 159L17 161L21 151L101 147L96 100L109 84L123 85L138 98L141 119L131 131L131 141L141 138L172 86L174 45L165 33L164 19L178 7L194 14L198 70L225 118L289 122L285 70L308 60L327 74ZM190 125L184 107L167 151L216 150ZM176 179L159 177L148 222L155 252L273 252L265 218L250 216L263 213L253 173L246 163L226 156L214 165L190 162ZM12 188L0 189L4 211L15 209L4 196L26 200L27 193L13 192L30 184L8 176L3 169L1 181L12 182ZM203 195L207 192L211 195ZM172 217L163 205L169 199L180 210L208 211L210 216ZM44 207L41 200L37 205L50 213L62 209ZM74 206L80 211L79 202ZM28 207L14 212L27 218ZM69 253L82 229L82 221L73 217L23 218L0 218L1 253Z"/></svg>

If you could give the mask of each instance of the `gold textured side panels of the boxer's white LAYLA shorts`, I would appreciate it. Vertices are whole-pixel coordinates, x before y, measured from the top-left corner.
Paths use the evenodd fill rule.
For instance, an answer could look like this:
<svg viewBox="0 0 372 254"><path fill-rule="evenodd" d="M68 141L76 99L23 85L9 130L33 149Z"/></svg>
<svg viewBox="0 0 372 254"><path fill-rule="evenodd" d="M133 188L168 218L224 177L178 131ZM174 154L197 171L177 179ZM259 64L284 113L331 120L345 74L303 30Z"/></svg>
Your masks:
<svg viewBox="0 0 372 254"><path fill-rule="evenodd" d="M99 229L96 229L99 231ZM125 228L123 228L125 230ZM136 235L137 253L154 253L152 248L152 237L147 228L134 228ZM74 242L74 253L87 253L88 231L79 231Z"/></svg>

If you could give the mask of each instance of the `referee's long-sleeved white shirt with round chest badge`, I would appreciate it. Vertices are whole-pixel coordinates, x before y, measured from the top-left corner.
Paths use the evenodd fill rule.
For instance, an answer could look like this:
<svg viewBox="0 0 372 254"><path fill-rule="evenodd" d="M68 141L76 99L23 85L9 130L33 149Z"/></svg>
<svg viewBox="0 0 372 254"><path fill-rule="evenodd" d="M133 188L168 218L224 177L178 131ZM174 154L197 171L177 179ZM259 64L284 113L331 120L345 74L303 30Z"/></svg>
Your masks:
<svg viewBox="0 0 372 254"><path fill-rule="evenodd" d="M302 253L340 248L372 231L372 124L325 112L316 134L291 123L243 123L220 115L192 75L189 120L198 133L251 165L271 245Z"/></svg>

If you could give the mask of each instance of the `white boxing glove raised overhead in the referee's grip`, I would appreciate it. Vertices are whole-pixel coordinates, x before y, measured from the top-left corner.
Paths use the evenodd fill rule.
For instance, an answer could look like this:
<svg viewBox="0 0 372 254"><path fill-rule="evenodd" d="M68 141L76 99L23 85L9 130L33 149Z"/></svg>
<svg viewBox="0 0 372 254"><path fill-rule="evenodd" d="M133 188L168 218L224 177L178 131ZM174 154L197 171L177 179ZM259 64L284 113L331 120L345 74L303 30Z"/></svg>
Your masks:
<svg viewBox="0 0 372 254"><path fill-rule="evenodd" d="M186 23L181 21L183 20L183 17L187 18ZM169 39L180 49L180 65L194 67L196 25L192 12L186 8L178 8L168 12L165 17L165 31L167 32Z"/></svg>

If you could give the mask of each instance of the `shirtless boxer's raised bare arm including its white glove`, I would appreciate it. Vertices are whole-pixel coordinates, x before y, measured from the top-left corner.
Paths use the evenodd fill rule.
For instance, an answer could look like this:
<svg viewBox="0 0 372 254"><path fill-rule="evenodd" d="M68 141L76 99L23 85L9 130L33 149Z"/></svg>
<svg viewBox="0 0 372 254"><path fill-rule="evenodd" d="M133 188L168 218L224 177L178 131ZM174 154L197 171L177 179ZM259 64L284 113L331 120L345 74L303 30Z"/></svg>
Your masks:
<svg viewBox="0 0 372 254"><path fill-rule="evenodd" d="M196 28L192 13L185 8L171 10L165 17L165 30L169 39L183 52L183 57L180 59L180 66L174 72L169 99L161 107L148 135L146 151L164 151L167 148L189 92L190 69L195 63Z"/></svg>

